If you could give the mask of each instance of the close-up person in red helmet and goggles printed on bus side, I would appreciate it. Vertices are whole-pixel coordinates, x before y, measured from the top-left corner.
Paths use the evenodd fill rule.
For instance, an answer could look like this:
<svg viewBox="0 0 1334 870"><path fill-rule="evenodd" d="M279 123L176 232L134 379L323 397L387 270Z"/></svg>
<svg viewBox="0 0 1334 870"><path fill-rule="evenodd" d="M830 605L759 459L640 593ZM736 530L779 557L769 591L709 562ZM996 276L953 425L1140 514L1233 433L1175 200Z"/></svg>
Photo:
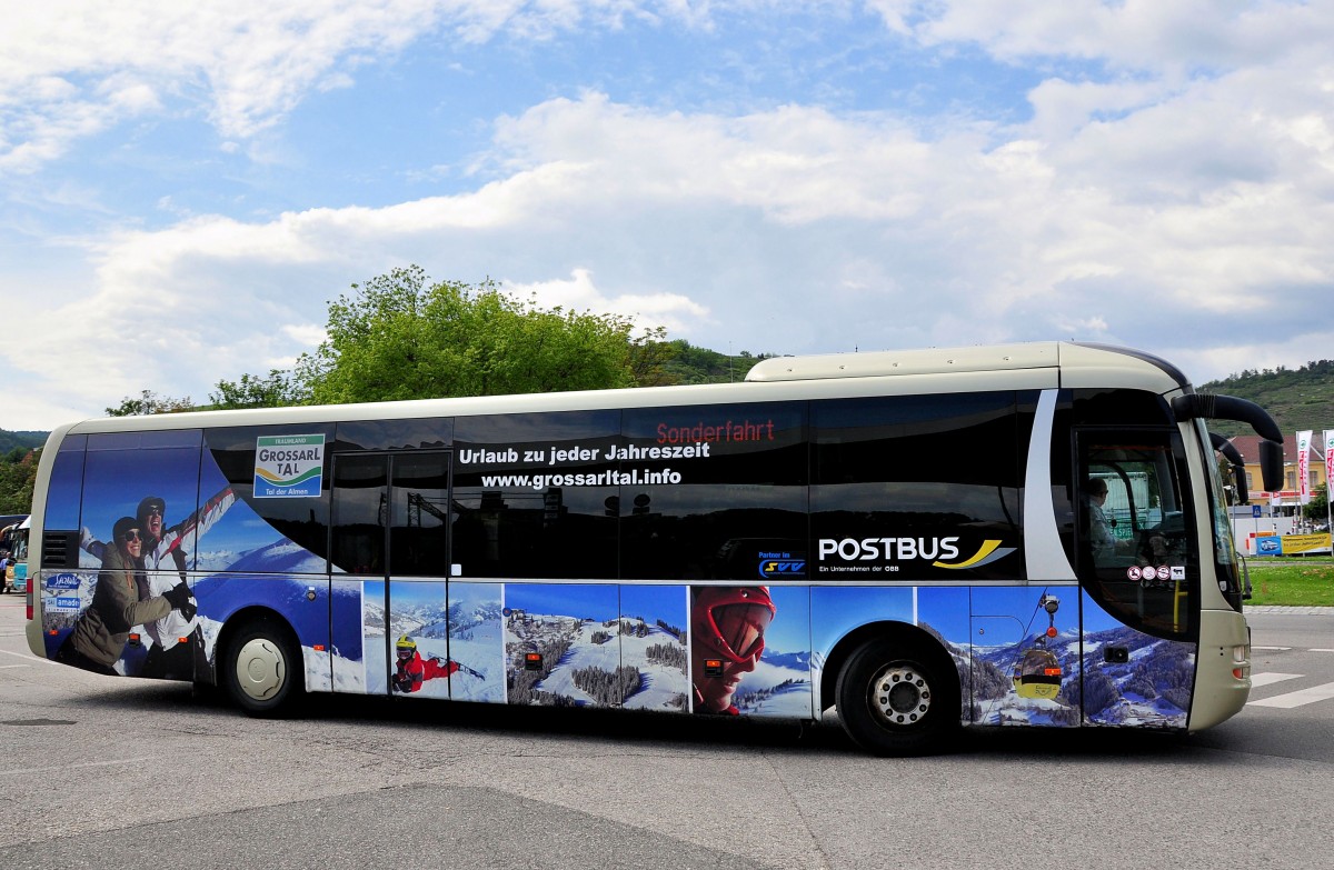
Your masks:
<svg viewBox="0 0 1334 870"><path fill-rule="evenodd" d="M732 695L764 651L764 631L778 615L767 586L704 586L690 618L695 713L738 715Z"/></svg>

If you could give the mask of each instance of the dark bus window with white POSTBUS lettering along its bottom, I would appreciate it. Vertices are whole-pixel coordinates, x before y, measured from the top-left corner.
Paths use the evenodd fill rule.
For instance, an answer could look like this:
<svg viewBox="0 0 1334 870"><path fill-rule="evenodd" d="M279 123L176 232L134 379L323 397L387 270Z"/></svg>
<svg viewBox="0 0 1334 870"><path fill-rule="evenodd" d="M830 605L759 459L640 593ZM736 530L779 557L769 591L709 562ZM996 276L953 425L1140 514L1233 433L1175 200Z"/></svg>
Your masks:
<svg viewBox="0 0 1334 870"><path fill-rule="evenodd" d="M1033 415L1014 392L816 402L811 530L816 575L1025 579L1019 492ZM867 542L892 542L879 546ZM890 547L894 547L891 551ZM852 574L848 574L852 571ZM864 575L862 575L864 576Z"/></svg>

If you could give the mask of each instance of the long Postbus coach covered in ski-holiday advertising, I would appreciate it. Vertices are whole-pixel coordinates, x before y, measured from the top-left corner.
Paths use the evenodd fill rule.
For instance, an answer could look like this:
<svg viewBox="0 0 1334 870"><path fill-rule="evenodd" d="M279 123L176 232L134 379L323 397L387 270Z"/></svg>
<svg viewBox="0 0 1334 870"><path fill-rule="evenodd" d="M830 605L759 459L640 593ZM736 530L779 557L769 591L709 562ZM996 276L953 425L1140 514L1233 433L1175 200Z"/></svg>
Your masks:
<svg viewBox="0 0 1334 870"><path fill-rule="evenodd" d="M1207 419L1281 471L1254 403L1071 342L85 420L41 454L27 639L259 717L304 693L832 710L884 755L960 726L1190 733L1250 689ZM1094 478L1125 506L1101 552Z"/></svg>

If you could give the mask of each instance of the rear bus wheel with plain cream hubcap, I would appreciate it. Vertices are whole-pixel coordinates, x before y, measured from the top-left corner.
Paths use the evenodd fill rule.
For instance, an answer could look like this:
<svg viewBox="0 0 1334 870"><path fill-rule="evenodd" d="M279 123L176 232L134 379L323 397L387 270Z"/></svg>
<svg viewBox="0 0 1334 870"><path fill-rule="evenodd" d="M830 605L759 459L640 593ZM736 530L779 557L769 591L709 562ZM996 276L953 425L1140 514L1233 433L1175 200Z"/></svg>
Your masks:
<svg viewBox="0 0 1334 870"><path fill-rule="evenodd" d="M228 640L221 671L232 702L252 717L287 715L305 693L301 648L268 619L244 624Z"/></svg>

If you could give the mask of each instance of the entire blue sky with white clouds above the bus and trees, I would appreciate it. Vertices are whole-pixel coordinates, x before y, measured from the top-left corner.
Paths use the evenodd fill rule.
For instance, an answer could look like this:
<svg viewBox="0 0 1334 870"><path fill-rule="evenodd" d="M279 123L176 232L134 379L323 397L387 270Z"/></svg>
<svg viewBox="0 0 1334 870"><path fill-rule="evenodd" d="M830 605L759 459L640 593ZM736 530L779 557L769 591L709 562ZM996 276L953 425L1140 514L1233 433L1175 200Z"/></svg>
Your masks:
<svg viewBox="0 0 1334 870"><path fill-rule="evenodd" d="M1330 44L1287 0L24 4L0 428L207 402L408 264L723 352L1297 367L1334 346Z"/></svg>

